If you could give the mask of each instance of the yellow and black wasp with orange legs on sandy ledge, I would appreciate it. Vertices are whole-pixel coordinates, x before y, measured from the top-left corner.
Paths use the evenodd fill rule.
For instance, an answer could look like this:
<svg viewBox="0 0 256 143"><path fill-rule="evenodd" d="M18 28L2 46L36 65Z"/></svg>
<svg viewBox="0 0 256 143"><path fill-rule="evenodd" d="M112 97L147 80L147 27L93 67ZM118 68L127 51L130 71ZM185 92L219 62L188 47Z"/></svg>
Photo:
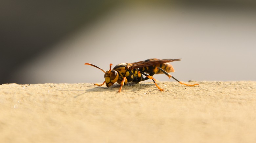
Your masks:
<svg viewBox="0 0 256 143"><path fill-rule="evenodd" d="M156 79L153 77L154 74L162 74L162 73L167 75L169 77L169 80L170 78L173 78L182 85L191 86L191 87L196 85L199 86L199 84L189 85L189 84L182 83L176 78L174 78L171 74L169 74L169 72L174 72L174 68L169 62L180 61L180 60L181 59L151 58L151 59L147 59L147 60L139 61L135 63L120 63L116 65L112 70L111 70L111 66L113 64L110 64L109 65L110 68L108 71L104 71L103 69L90 63L85 63L85 65L96 67L105 73L104 75L105 81L102 84L94 84L94 85L102 86L104 85L104 83L106 83L106 86L110 87L117 82L118 84L121 85L118 92L121 92L122 87L126 85L128 82L139 83L140 81L145 81L147 79L152 79L155 85L157 86L157 88L160 91L163 91L163 89L157 85ZM143 75L145 77L143 77Z"/></svg>

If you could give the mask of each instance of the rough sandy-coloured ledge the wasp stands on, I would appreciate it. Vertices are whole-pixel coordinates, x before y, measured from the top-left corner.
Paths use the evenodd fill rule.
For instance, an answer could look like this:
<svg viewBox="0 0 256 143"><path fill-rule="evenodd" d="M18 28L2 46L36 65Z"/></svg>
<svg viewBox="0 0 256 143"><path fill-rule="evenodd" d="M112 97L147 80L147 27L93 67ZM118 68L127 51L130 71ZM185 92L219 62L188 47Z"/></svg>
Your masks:
<svg viewBox="0 0 256 143"><path fill-rule="evenodd" d="M255 81L158 83L0 85L0 142L256 142Z"/></svg>

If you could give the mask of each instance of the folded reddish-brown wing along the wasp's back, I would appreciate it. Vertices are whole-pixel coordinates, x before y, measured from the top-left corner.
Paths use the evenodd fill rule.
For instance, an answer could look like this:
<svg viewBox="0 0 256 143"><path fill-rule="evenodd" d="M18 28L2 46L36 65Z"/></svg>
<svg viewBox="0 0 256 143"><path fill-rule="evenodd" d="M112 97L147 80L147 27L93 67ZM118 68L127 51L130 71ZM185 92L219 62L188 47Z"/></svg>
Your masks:
<svg viewBox="0 0 256 143"><path fill-rule="evenodd" d="M153 60L149 60L149 61L145 60L145 61L139 61L139 62L132 63L132 66L130 68L132 70L132 69L136 69L136 68L142 68L142 67L152 66L152 65L156 65L156 64L169 63L169 62L180 61L180 60L181 60L181 58L179 58L179 59L153 59Z"/></svg>

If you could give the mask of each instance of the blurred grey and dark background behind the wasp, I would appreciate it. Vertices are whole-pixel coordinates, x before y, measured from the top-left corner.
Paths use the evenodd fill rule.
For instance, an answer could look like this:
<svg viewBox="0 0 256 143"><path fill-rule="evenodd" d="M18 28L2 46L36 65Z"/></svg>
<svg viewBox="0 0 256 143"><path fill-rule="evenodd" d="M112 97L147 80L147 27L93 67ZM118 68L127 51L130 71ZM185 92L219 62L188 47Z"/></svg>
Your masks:
<svg viewBox="0 0 256 143"><path fill-rule="evenodd" d="M254 0L2 0L0 36L0 84L101 83L84 63L148 58L182 58L181 81L256 80Z"/></svg>

